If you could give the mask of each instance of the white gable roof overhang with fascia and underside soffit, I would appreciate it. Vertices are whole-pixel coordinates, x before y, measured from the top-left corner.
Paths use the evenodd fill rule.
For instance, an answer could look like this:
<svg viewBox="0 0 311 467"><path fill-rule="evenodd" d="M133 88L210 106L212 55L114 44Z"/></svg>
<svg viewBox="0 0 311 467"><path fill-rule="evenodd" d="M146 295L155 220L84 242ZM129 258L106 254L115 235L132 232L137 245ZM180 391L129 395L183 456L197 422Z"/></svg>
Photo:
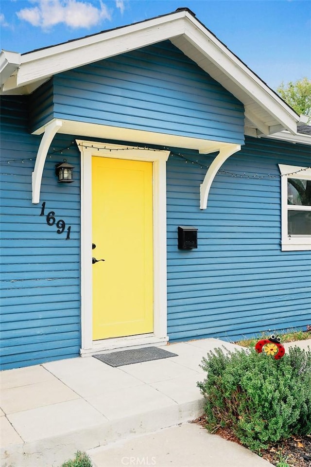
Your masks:
<svg viewBox="0 0 311 467"><path fill-rule="evenodd" d="M296 134L299 116L187 8L20 56L6 65L2 94L30 94L55 73L124 54L164 40L239 99L245 108L246 134ZM6 52L0 54L0 63ZM0 70L1 71L1 70Z"/></svg>

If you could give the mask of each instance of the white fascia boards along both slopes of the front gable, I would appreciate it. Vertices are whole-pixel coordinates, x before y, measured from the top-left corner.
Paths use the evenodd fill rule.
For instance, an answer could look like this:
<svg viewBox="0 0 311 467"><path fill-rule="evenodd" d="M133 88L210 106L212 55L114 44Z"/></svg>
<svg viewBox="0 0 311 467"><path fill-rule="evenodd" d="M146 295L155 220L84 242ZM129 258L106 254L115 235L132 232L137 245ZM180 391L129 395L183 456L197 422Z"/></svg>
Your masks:
<svg viewBox="0 0 311 467"><path fill-rule="evenodd" d="M245 96L264 108L283 128L296 133L299 116L294 110L186 10L22 55L17 87L163 40L173 41L182 35L202 54L202 59L207 58L217 66Z"/></svg>

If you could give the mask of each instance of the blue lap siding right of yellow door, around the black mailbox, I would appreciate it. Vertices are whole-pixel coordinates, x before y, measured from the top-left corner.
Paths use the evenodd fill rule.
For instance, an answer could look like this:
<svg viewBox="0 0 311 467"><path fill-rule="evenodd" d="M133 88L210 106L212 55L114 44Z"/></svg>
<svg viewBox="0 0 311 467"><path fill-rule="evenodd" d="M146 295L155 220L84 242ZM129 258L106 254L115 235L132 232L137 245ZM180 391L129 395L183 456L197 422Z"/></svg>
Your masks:
<svg viewBox="0 0 311 467"><path fill-rule="evenodd" d="M212 157L179 152L186 159L175 152L168 161L170 340L234 340L266 330L306 329L311 251L280 249L277 164L310 166L310 146L247 138L222 167L229 173L216 176L202 211L199 186L206 169L196 161L208 165ZM177 249L178 225L198 228L197 250Z"/></svg>

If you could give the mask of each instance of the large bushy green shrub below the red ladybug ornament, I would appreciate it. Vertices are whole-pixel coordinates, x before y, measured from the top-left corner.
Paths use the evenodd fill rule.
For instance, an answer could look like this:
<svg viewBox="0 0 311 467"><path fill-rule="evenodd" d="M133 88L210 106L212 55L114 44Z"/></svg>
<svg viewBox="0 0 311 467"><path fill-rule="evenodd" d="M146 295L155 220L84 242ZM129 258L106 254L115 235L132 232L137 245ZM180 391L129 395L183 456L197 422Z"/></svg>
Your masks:
<svg viewBox="0 0 311 467"><path fill-rule="evenodd" d="M242 444L259 451L291 434L311 433L311 352L298 347L279 360L255 350L203 359L207 429L230 428Z"/></svg>

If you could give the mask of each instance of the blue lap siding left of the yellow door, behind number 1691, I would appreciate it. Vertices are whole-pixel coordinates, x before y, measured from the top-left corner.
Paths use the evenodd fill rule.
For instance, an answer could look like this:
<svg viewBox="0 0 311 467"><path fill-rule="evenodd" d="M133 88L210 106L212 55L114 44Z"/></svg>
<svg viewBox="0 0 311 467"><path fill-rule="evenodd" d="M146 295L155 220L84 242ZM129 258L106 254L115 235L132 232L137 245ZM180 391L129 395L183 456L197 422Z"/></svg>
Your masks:
<svg viewBox="0 0 311 467"><path fill-rule="evenodd" d="M76 357L81 346L80 153L67 150L71 137L54 138L40 204L32 204L41 136L29 134L27 107L24 96L1 99L1 369ZM55 177L55 164L64 157L77 180L67 186ZM47 224L50 211L71 225L69 240Z"/></svg>

